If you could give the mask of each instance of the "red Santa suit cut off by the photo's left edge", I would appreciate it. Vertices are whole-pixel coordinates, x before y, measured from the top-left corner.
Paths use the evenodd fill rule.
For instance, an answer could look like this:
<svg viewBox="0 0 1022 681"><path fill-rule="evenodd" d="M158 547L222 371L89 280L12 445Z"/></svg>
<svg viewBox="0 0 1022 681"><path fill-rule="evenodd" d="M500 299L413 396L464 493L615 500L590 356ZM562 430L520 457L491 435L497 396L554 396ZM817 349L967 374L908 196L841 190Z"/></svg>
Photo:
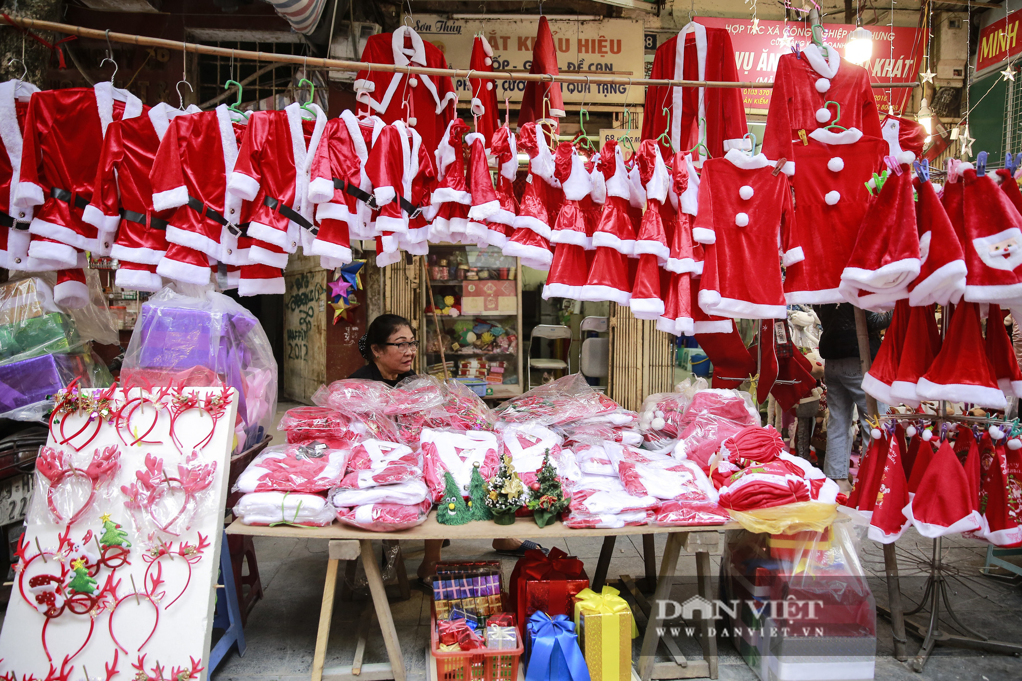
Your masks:
<svg viewBox="0 0 1022 681"><path fill-rule="evenodd" d="M0 267L8 270L21 269L29 258L33 209L14 208L10 199L21 176L21 129L34 92L39 88L25 81L0 83Z"/></svg>

